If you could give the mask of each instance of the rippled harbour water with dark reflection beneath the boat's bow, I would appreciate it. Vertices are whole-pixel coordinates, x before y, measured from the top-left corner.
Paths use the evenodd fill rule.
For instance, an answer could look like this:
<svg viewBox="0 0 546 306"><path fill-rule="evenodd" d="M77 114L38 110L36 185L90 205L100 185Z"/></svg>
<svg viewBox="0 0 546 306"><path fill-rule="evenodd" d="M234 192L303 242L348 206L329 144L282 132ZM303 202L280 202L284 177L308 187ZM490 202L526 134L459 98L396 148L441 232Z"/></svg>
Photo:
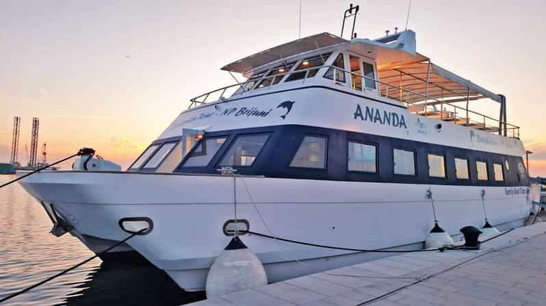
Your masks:
<svg viewBox="0 0 546 306"><path fill-rule="evenodd" d="M0 176L0 183L13 178ZM49 217L21 186L0 189L0 297L93 255L70 234L57 238L49 230ZM184 292L153 266L112 265L96 259L2 306L181 305L203 298L203 292Z"/></svg>

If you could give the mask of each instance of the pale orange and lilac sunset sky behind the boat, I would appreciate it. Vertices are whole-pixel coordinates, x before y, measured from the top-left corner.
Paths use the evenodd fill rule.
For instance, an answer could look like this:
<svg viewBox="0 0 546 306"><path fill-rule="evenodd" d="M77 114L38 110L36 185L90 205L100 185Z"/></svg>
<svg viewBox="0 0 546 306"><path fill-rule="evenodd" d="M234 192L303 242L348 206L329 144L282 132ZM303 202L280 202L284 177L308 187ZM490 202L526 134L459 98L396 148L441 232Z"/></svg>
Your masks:
<svg viewBox="0 0 546 306"><path fill-rule="evenodd" d="M302 0L302 36L339 35L350 2ZM407 0L352 2L359 37L404 28ZM0 0L0 161L19 115L23 163L40 117L49 161L87 146L126 167L190 98L233 83L220 67L298 38L298 10L299 0ZM409 19L419 53L507 97L532 176L546 176L545 17L546 1L413 0Z"/></svg>

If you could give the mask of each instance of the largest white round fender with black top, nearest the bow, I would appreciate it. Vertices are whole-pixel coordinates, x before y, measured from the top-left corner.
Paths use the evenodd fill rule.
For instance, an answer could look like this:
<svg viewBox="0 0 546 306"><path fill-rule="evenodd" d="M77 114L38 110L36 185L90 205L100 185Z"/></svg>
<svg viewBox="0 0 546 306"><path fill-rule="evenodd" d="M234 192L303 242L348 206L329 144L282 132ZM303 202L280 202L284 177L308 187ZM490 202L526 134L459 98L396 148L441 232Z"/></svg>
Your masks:
<svg viewBox="0 0 546 306"><path fill-rule="evenodd" d="M266 285L268 277L259 258L235 236L214 260L205 291L207 298Z"/></svg>

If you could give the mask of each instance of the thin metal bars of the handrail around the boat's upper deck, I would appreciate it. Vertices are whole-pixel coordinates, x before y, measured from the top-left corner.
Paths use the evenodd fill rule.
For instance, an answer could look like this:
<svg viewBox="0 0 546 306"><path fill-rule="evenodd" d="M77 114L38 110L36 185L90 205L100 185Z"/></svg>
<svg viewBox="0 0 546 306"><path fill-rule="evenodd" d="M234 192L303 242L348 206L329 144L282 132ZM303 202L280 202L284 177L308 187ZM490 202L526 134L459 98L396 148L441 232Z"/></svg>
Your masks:
<svg viewBox="0 0 546 306"><path fill-rule="evenodd" d="M384 85L385 86L385 98L390 98L390 99L393 99L393 100L400 100L400 102L404 102L402 96L405 96L408 97L408 100L405 101L406 105L418 105L418 106L422 106L424 108L424 111L425 113L428 113L428 111L433 111L433 112L436 112L438 110L436 109L430 109L427 105L426 105L426 102L428 100L431 100L431 101L436 101L438 102L437 104L440 104L441 105L441 109L439 110L439 113L441 115L441 120L443 120L443 112L445 111L444 110L444 105L447 105L449 107L453 107L454 108L454 113L455 113L455 118L456 118L456 113L457 113L457 110L460 110L460 111L464 111L465 113L472 113L474 115L478 115L480 117L483 118L483 122L476 122L476 121L473 121L476 125L481 125L483 124L483 129L484 130L487 130L488 128L490 128L491 130L495 130L495 128L497 128L497 126L491 126L491 125L487 125L486 124L486 119L489 119L489 120L493 120L497 123L501 122L501 120L498 120L498 119L495 119L493 117L489 117L488 115L484 115L482 113L478 113L476 111L471 111L469 109L466 109L466 108L463 108L463 107L458 107L456 105L452 105L449 103L449 100L445 101L445 100L438 100L437 98L432 98L430 96L427 96L426 94L421 94L419 92L414 92L413 90L410 90L410 89L405 89L403 87L399 87L397 85L393 85L391 83L386 83L384 81L380 81L379 79L374 79L372 77L367 77L363 74L357 74L355 72L352 72L352 71L348 71L348 70L344 70L342 68L339 68L337 66L332 66L332 65L324 65L324 66L318 66L318 67L311 67L311 68L304 68L304 69L300 69L300 70L294 70L294 71L288 71L288 72L283 72L283 73L279 73L279 74L274 74L274 75L269 75L269 76L263 76L263 77L259 77L259 78L256 78L256 79L247 79L246 81L242 82L242 83L237 83L237 84L233 84L233 85L228 85L228 86L225 86L225 87L221 87L219 89L215 89L215 90L212 90L211 92L207 92L205 94L202 94L200 96L196 96L195 98L192 98L190 99L190 101L192 102L192 104L190 104L190 107L188 107L188 109L192 109L193 107L197 107L198 105L203 105L206 103L206 100L207 98L209 98L209 96L211 96L211 94L214 94L216 92L222 92L220 94L220 98L218 98L218 100L225 100L226 98L224 97L224 94L226 93L227 89L231 88L231 87L239 87L241 88L241 90L239 91L239 89L237 89L231 96L235 96L235 95L239 95L239 94L244 94L252 89L255 89L255 87L261 83L261 81L265 80L265 79L271 79L271 82L270 84L268 85L268 87L270 87L274 81L275 78L278 78L278 77L281 77L282 79L285 78L286 75L288 74L294 74L294 73L301 73L301 72L305 72L305 76L301 79L301 81L306 81L307 80L307 76L309 74L309 71L311 70L320 70L322 68L332 68L335 70L339 70L340 72L344 72L344 73L348 73L348 74L351 74L352 76L356 76L356 77L361 77L363 78L363 81L364 80L369 80L369 81L374 81L375 83L377 83L378 85ZM334 73L334 76L335 76L335 73ZM281 81L282 81L281 79ZM294 80L296 81L296 80ZM337 78L333 78L333 81L334 82L337 82ZM253 83L252 86L250 88L248 88L248 84L250 83ZM280 83L280 82L278 82ZM400 99L398 98L393 98L393 97L389 97L389 87L393 88L393 89L398 89L397 91L400 91ZM381 95L381 91L382 89L380 89L380 87L378 86L378 89L379 91L379 94ZM404 92L404 94L402 94L402 92ZM417 102L409 102L409 95L410 94L414 94L414 95L417 95L417 96L421 96L422 98L424 98L424 101L425 103L424 104L417 104L421 101L417 101ZM205 97L205 98L203 98ZM203 98L203 100L198 100L200 98ZM446 111L448 114L449 112ZM467 122L465 125L470 125L471 124L471 120L469 120L469 116L467 115L466 117L460 117L461 119L466 119ZM512 130L512 137L517 137L519 138L519 126L515 126L514 124L509 124L508 122L502 122L503 125L506 125L506 130ZM515 130L517 130L517 135L515 134Z"/></svg>

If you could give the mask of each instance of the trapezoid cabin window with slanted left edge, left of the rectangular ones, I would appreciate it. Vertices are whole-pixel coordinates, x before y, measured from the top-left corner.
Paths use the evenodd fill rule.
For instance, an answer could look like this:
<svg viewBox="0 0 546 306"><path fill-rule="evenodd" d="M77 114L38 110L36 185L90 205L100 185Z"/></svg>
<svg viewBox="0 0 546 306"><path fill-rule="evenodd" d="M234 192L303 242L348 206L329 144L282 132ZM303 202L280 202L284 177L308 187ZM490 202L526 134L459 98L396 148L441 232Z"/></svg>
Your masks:
<svg viewBox="0 0 546 306"><path fill-rule="evenodd" d="M304 137L296 156L290 163L290 167L325 169L327 141L327 137Z"/></svg>

